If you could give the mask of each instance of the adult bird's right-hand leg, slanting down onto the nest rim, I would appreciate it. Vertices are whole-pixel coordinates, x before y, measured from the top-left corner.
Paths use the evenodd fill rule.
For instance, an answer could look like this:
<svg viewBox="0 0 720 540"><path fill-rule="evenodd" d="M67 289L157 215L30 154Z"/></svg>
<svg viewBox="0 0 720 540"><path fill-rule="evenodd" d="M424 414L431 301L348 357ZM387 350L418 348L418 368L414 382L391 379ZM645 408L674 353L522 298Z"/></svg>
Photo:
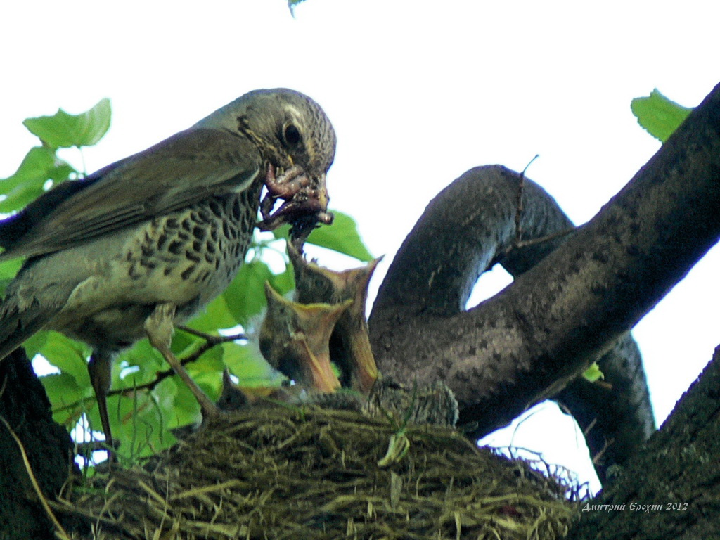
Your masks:
<svg viewBox="0 0 720 540"><path fill-rule="evenodd" d="M158 304L153 313L145 320L145 332L150 338L150 345L158 349L163 358L183 380L200 404L203 418L210 418L218 414L217 406L207 397L205 392L190 377L180 361L170 350L170 341L173 335L175 318L175 305L171 303Z"/></svg>

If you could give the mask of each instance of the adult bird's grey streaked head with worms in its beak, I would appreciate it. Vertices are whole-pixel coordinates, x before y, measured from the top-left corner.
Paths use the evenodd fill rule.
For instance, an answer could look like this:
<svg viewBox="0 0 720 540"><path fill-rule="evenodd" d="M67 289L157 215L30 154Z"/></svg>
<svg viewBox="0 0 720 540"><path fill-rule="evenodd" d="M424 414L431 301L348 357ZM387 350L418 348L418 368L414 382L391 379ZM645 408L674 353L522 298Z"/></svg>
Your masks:
<svg viewBox="0 0 720 540"><path fill-rule="evenodd" d="M218 109L198 124L244 135L266 163L268 194L261 228L284 222L310 233L316 222L329 223L325 175L335 158L333 125L320 105L289 89L255 90ZM277 199L284 203L272 211Z"/></svg>

